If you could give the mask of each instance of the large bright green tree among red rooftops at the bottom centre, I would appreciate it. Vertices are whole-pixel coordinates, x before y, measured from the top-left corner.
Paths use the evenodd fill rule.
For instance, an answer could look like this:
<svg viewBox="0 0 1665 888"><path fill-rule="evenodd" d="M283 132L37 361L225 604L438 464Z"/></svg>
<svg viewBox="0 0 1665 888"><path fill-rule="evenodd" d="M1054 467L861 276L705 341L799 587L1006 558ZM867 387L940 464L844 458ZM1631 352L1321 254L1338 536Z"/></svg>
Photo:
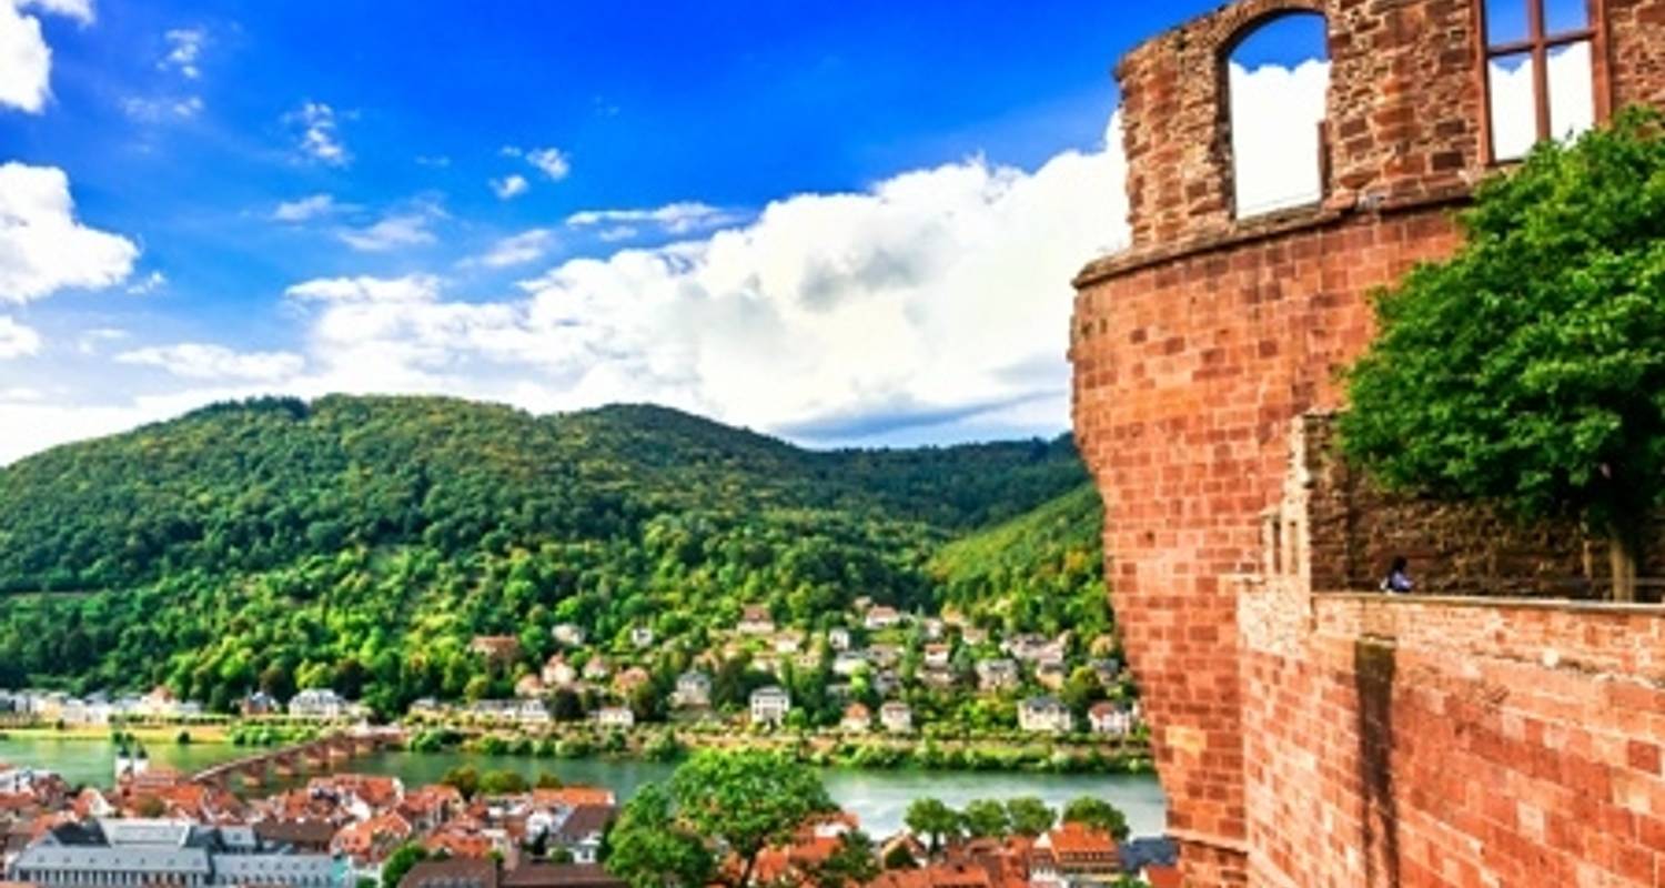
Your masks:
<svg viewBox="0 0 1665 888"><path fill-rule="evenodd" d="M813 770L783 755L703 750L666 790L638 793L613 830L614 871L634 888L751 881L758 855L818 813L837 810ZM694 846L701 850L694 851ZM736 866L716 866L719 850ZM661 870L674 881L664 881ZM704 880L704 881L701 881Z"/></svg>

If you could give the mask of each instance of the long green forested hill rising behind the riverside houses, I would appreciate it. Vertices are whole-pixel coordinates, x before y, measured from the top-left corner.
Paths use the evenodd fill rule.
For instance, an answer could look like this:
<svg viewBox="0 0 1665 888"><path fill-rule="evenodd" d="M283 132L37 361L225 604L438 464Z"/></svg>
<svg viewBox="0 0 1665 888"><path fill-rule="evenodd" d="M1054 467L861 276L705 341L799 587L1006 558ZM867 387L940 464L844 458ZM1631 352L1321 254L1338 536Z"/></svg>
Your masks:
<svg viewBox="0 0 1665 888"><path fill-rule="evenodd" d="M653 407L220 405L0 470L0 686L168 683L228 708L330 685L396 713L508 693L568 621L603 646L651 626L656 678L746 605L813 630L861 596L934 613L954 590L1042 630L1056 608L971 598L1057 586L932 560L1084 481L1069 438L809 451ZM1012 553L1057 560L1031 548ZM518 636L518 666L483 668L478 635Z"/></svg>

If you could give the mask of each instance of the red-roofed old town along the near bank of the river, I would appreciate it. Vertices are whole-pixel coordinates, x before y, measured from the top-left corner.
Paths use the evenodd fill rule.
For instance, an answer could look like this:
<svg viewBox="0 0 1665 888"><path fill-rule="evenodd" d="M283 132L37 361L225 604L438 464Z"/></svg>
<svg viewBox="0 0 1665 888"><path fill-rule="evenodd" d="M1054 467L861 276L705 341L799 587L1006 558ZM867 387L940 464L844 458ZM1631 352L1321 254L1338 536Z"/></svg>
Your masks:
<svg viewBox="0 0 1665 888"><path fill-rule="evenodd" d="M736 761L746 766L744 755ZM629 841L614 835L621 823L614 793L563 785L548 773L528 781L513 771L465 766L426 786L405 786L395 776L316 773L265 798L238 796L221 771L186 775L133 756L118 758L112 776L110 790L77 788L50 771L0 766L5 878L40 888L643 883L608 866L609 846L623 856L628 851L619 848ZM749 801L766 806L744 796L734 805ZM1037 800L974 801L964 813L919 800L909 808L909 830L881 841L837 810L781 823L744 861L751 875L733 885L1089 888L1141 885L1134 876L1159 888L1177 885L1172 843L1129 841L1121 815L1092 798L1069 805L1062 818ZM741 863L741 851L729 845L716 846L719 870Z"/></svg>

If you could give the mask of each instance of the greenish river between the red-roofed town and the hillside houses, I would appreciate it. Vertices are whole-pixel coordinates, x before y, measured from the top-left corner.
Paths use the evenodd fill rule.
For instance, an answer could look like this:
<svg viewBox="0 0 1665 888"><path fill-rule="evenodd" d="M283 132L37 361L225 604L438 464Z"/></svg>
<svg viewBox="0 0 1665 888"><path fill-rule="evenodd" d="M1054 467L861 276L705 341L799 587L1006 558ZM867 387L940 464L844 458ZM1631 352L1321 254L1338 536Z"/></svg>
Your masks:
<svg viewBox="0 0 1665 888"><path fill-rule="evenodd" d="M228 758L248 755L241 746L200 743L148 746L153 763L181 771L195 771ZM0 740L0 761L45 768L63 775L70 783L107 786L115 768L115 745L107 738L60 736L10 736ZM508 768L534 778L538 771L553 771L566 783L608 786L619 800L628 800L636 786L669 776L674 765L654 761L613 761L601 758L543 760L524 756L491 756L478 753L406 753L385 751L355 758L348 770L376 775L393 775L406 786L433 783L446 770L458 765L500 770ZM954 808L962 808L974 798L1039 796L1054 808L1072 798L1092 795L1112 801L1127 813L1127 823L1137 836L1161 835L1166 823L1167 801L1151 775L1046 775L1027 771L864 771L829 768L823 771L828 791L846 810L861 818L862 828L874 836L887 836L901 830L902 811L916 798L934 796Z"/></svg>

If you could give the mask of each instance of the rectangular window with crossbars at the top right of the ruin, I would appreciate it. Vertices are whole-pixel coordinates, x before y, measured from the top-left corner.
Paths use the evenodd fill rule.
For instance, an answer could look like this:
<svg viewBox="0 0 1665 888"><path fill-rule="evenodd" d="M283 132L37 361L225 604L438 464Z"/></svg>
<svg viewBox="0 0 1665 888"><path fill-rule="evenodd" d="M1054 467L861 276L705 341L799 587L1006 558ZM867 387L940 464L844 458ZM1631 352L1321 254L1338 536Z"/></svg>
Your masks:
<svg viewBox="0 0 1665 888"><path fill-rule="evenodd" d="M1480 2L1492 162L1595 125L1598 2Z"/></svg>

